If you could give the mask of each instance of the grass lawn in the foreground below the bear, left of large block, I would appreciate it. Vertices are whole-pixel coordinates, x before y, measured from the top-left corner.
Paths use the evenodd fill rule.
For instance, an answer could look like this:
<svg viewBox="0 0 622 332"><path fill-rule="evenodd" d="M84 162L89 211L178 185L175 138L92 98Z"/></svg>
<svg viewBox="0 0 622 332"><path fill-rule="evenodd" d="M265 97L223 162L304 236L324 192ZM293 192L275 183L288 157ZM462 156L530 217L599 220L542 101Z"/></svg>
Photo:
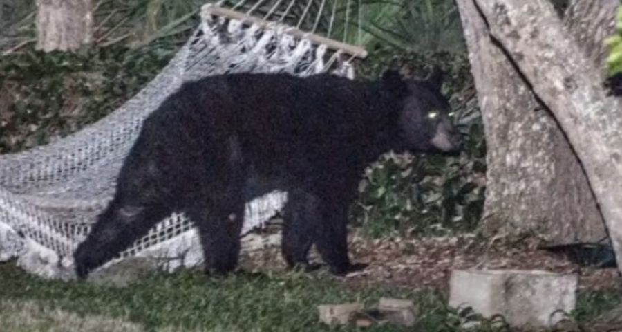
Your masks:
<svg viewBox="0 0 622 332"><path fill-rule="evenodd" d="M408 331L460 331L465 320L440 293L351 286L323 272L207 277L154 274L126 287L46 281L0 264L1 331L359 331L318 320L319 304L414 299L420 320ZM491 329L488 322L478 331ZM500 325L500 324L497 324ZM372 326L364 331L406 331Z"/></svg>

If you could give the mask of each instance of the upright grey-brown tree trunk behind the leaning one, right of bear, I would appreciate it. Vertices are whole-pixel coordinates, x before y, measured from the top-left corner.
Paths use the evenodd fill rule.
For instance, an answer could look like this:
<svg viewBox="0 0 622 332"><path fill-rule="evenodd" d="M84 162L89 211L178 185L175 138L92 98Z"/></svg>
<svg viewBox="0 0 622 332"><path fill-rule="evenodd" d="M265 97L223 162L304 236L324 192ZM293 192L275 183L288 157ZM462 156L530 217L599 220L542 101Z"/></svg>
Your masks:
<svg viewBox="0 0 622 332"><path fill-rule="evenodd" d="M490 38L472 0L460 9L487 140L484 227L552 244L596 242L603 219L563 131Z"/></svg>

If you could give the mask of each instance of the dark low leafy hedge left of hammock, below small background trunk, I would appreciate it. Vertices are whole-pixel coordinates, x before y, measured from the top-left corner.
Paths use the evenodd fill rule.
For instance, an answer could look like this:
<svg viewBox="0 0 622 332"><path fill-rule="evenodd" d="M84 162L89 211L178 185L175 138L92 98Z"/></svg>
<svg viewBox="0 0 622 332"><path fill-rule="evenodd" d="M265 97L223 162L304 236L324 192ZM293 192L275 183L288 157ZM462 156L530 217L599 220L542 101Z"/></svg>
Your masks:
<svg viewBox="0 0 622 332"><path fill-rule="evenodd" d="M45 144L110 113L149 82L176 50L125 46L0 57L0 153Z"/></svg>

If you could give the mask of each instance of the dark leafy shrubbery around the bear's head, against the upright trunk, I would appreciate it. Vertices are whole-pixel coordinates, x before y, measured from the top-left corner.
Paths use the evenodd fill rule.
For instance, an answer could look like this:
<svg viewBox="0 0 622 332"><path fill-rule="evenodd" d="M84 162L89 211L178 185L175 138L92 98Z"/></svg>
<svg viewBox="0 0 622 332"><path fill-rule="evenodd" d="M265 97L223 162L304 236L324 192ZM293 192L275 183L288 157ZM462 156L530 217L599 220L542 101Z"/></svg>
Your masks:
<svg viewBox="0 0 622 332"><path fill-rule="evenodd" d="M390 46L373 52L369 60L370 66L359 71L365 77L377 77L387 67L401 68L411 77L424 77L431 65L443 68L444 90L453 96L454 121L466 144L455 157L386 154L366 170L352 219L372 237L473 230L484 203L486 145L468 60L450 53L396 54Z"/></svg>

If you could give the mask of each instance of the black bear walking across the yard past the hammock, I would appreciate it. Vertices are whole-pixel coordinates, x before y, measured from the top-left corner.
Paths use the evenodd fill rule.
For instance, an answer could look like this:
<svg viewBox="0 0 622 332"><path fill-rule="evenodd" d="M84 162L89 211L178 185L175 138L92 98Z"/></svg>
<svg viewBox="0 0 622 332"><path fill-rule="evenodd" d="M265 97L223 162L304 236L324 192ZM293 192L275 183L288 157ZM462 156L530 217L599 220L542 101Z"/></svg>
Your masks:
<svg viewBox="0 0 622 332"><path fill-rule="evenodd" d="M208 273L236 268L245 187L288 192L282 254L308 264L315 244L330 271L350 264L349 204L364 167L389 151L457 151L462 138L442 77L378 81L334 75L236 74L187 82L144 120L116 192L75 251L79 277L112 259L171 212L197 225Z"/></svg>

